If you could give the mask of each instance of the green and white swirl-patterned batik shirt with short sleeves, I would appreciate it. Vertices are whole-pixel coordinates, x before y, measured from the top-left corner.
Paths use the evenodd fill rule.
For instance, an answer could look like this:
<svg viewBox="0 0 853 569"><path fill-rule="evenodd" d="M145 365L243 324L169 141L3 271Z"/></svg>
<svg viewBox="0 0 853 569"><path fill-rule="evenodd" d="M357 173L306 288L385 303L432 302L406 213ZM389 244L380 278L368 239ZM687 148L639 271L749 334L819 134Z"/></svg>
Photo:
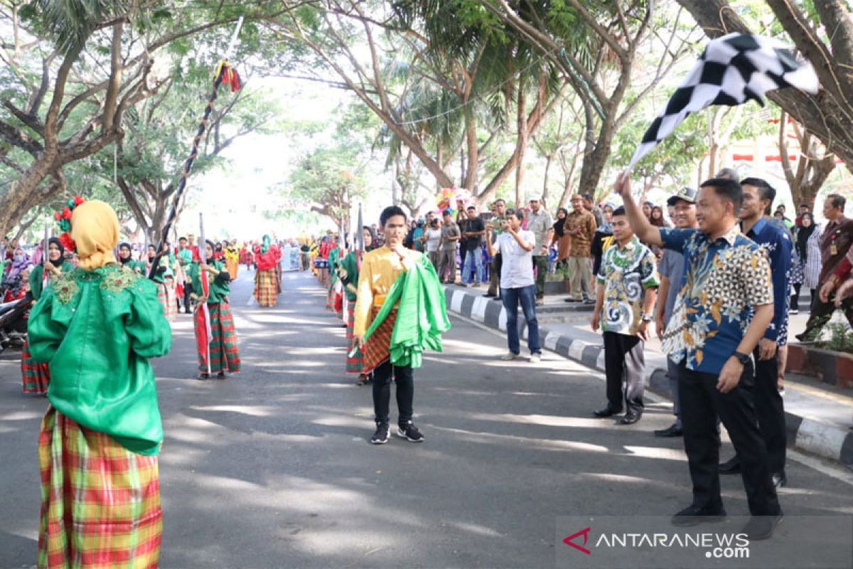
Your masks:
<svg viewBox="0 0 853 569"><path fill-rule="evenodd" d="M604 286L601 329L635 335L642 322L646 290L659 286L652 250L636 236L624 247L614 241L601 258L598 282Z"/></svg>

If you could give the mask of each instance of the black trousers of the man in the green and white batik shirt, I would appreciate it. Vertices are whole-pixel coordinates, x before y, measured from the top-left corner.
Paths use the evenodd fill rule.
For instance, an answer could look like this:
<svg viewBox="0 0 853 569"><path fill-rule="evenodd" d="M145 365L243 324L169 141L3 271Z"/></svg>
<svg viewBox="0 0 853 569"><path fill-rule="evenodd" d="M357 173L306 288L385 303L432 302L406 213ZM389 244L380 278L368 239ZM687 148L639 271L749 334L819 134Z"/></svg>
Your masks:
<svg viewBox="0 0 853 569"><path fill-rule="evenodd" d="M642 413L642 394L645 390L643 369L646 366L643 355L644 345L639 336L616 332L604 333L607 404L615 411L622 411L624 399L627 413L637 415Z"/></svg>

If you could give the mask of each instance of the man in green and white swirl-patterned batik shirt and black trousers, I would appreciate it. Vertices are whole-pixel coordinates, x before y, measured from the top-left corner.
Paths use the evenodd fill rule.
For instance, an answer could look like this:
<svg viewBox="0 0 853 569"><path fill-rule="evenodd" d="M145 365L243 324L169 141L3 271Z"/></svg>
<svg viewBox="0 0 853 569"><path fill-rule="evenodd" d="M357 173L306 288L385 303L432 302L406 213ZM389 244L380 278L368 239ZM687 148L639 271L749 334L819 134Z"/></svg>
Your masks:
<svg viewBox="0 0 853 569"><path fill-rule="evenodd" d="M631 425L640 421L643 411L645 360L644 343L658 292L658 270L654 253L634 235L625 208L613 212L614 247L601 259L592 329L599 324L604 332L604 367L607 381L607 405L595 411L596 417L625 415L617 423ZM604 322L601 322L601 313ZM625 390L622 391L622 380ZM623 405L624 402L624 405Z"/></svg>

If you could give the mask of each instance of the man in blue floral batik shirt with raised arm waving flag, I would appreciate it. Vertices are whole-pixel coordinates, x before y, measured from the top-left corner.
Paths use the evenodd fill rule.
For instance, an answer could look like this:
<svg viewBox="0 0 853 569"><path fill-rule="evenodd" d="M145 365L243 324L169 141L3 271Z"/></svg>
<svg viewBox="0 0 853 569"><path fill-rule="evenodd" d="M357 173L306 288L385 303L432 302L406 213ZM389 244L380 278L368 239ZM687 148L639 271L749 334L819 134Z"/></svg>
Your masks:
<svg viewBox="0 0 853 569"><path fill-rule="evenodd" d="M654 227L637 207L627 176L620 177L615 189L641 241L684 253L682 292L662 347L678 364L693 502L675 514L672 523L698 525L726 515L717 471L719 416L740 456L751 513L743 533L750 541L768 539L782 510L758 430L751 353L773 321L773 282L767 255L740 233L740 183L712 178L700 186L696 200L699 229Z"/></svg>

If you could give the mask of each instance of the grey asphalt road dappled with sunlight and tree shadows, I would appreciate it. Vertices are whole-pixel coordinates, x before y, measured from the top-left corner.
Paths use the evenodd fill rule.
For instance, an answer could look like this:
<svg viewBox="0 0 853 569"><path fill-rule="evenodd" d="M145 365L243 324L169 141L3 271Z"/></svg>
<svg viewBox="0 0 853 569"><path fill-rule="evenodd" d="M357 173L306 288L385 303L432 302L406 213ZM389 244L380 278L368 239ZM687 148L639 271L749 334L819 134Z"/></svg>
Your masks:
<svg viewBox="0 0 853 569"><path fill-rule="evenodd" d="M240 375L192 379L184 315L154 363L162 567L553 567L558 516L669 516L690 502L682 441L651 434L670 424L667 405L650 403L632 427L596 420L600 373L553 354L504 364L501 336L458 319L415 374L427 441L368 444L369 388L343 373L344 328L324 291L286 274L264 310L247 305L251 286L243 272L232 297ZM47 403L20 392L17 357L0 356L0 568L36 556ZM788 479L786 514L853 514L849 475L791 461ZM722 484L728 513L746 514L740 479Z"/></svg>

